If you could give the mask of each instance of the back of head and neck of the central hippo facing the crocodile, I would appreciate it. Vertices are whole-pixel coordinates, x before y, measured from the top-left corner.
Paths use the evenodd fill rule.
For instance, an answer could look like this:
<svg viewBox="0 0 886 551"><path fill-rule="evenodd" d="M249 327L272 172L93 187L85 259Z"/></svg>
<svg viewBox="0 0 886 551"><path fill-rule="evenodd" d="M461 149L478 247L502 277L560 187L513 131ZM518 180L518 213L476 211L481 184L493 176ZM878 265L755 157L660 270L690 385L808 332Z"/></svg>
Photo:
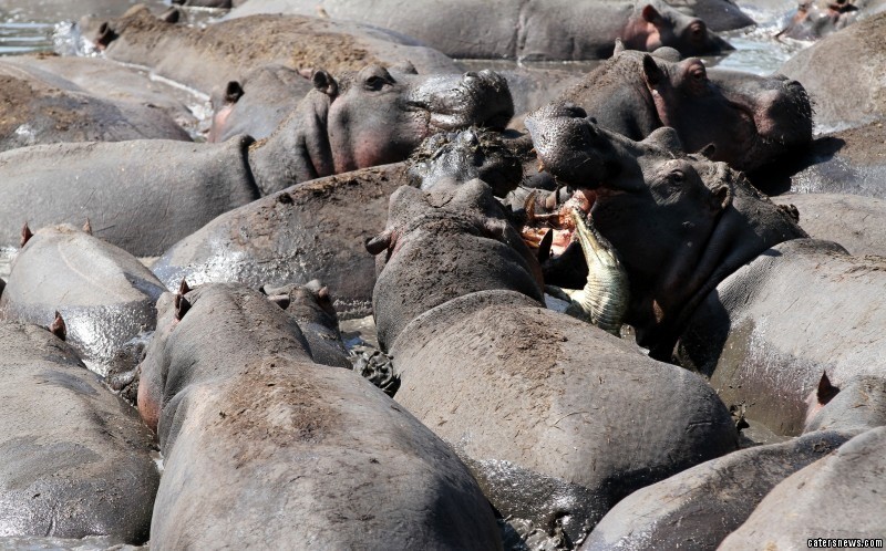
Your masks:
<svg viewBox="0 0 886 551"><path fill-rule="evenodd" d="M543 301L535 256L484 181L391 195L384 231L367 242L377 254L372 311L390 347L420 314L477 291L505 290Z"/></svg>

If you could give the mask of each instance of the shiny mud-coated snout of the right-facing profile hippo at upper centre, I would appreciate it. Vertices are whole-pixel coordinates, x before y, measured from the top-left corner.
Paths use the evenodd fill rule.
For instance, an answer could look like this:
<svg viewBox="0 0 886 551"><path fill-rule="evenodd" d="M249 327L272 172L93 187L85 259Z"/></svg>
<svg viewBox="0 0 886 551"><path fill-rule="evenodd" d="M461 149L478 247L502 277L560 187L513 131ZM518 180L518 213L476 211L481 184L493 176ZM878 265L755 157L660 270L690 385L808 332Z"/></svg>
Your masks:
<svg viewBox="0 0 886 551"><path fill-rule="evenodd" d="M434 129L454 131L467 126L503 129L514 116L514 101L504 76L490 70L429 77L406 100L408 107L429 114Z"/></svg>

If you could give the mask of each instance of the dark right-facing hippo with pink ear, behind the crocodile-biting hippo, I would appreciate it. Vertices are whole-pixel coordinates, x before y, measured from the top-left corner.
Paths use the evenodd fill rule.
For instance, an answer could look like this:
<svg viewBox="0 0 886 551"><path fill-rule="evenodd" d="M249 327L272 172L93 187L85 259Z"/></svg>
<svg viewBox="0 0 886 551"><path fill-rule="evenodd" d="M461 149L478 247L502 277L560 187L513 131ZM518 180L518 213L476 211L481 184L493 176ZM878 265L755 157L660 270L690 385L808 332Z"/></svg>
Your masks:
<svg viewBox="0 0 886 551"><path fill-rule="evenodd" d="M670 126L687 150L713 144L714 159L745 171L812 141L812 107L799 82L678 60L668 49L652 54L618 49L559 101L635 141Z"/></svg>

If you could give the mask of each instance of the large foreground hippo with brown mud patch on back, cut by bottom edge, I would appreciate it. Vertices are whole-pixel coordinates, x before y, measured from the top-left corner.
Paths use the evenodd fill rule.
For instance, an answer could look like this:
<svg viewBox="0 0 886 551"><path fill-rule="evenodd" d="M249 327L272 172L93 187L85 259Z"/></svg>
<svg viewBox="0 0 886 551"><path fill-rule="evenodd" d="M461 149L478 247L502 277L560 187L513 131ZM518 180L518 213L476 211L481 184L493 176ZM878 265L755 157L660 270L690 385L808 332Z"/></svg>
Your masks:
<svg viewBox="0 0 886 551"><path fill-rule="evenodd" d="M157 310L138 391L164 455L152 548L501 549L457 457L352 371L315 363L275 302L208 284Z"/></svg>

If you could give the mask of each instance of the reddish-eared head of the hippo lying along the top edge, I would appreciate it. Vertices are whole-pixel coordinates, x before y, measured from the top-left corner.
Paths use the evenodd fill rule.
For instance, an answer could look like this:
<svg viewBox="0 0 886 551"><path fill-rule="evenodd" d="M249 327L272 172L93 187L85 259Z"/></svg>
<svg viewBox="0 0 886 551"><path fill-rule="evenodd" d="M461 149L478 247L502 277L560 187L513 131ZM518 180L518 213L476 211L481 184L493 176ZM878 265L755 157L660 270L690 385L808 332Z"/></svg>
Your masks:
<svg viewBox="0 0 886 551"><path fill-rule="evenodd" d="M621 40L631 50L651 52L670 46L681 55L715 55L733 50L729 42L709 31L704 21L664 3L639 3Z"/></svg>

